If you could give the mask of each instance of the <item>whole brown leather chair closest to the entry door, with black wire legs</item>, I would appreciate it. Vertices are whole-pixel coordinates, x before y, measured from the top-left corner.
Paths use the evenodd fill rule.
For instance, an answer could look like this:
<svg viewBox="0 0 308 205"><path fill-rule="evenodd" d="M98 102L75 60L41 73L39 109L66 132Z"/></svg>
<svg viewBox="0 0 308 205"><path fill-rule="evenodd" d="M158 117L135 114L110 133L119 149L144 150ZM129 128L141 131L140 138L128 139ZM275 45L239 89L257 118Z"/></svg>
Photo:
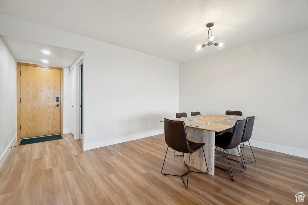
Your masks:
<svg viewBox="0 0 308 205"><path fill-rule="evenodd" d="M183 121L178 121L178 120L168 120L168 119L164 119L164 130L165 130L165 141L166 144L168 145L167 147L167 151L166 151L166 155L165 155L165 159L164 159L164 164L165 164L165 160L166 160L166 156L168 153L168 148L172 148L174 150L176 150L177 152L182 152L184 153L189 153L189 160L188 160L188 167L185 164L185 159L184 159L184 155L183 155L183 160L184 160L184 164L186 166L186 168L188 168L188 171L182 175L173 175L173 174L166 174L163 173L163 169L164 169L164 164L163 167L161 168L161 173L163 175L171 175L171 176L180 176L185 188L187 189L188 187L188 177L189 177L189 173L190 172L196 172L199 174L207 174L208 172L200 172L200 171L189 171L189 166L190 166L190 155L196 151L198 151L199 149L202 148L203 151L203 156L204 156L204 160L205 160L205 164L206 164L206 159L205 159L205 154L204 154L204 149L203 146L205 145L205 143L196 143L196 142L192 142L189 141L187 139L187 134L186 134L186 128L185 128L185 124ZM208 165L206 164L206 168L208 169ZM185 185L185 182L183 180L183 176L187 174L187 182Z"/></svg>

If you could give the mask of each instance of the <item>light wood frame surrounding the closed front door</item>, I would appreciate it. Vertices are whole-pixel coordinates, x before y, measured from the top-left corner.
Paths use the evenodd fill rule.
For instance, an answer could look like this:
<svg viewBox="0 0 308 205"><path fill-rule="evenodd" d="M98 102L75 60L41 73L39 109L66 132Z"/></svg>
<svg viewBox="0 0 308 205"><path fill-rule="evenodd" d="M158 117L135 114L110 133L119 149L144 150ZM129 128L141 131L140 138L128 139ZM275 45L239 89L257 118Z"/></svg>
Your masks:
<svg viewBox="0 0 308 205"><path fill-rule="evenodd" d="M51 69L59 69L61 70L61 100L60 100L60 106L61 106L61 117L60 117L60 123L61 123L61 134L63 134L63 68L61 67L54 67L54 66L47 66L47 65L37 65L37 64L30 64L30 63L21 63L17 62L17 140L20 140L20 66L21 65L27 65L27 66L34 66L34 67L40 67L40 68L51 68Z"/></svg>

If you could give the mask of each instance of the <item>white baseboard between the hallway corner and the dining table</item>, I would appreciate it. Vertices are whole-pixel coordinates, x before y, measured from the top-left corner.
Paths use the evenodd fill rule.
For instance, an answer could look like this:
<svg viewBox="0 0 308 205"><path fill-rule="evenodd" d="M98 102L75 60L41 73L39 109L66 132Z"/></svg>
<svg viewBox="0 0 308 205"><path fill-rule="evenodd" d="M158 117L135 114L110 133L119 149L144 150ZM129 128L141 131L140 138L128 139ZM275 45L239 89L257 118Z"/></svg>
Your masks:
<svg viewBox="0 0 308 205"><path fill-rule="evenodd" d="M112 144L119 144L119 143L122 143L122 142L131 141L131 140L138 140L138 139L141 139L141 138L144 138L144 137L159 135L159 134L162 134L162 133L164 133L164 130L160 129L160 130L144 132L144 133L140 133L140 134L136 134L136 135L117 137L117 138L112 138L112 139L108 139L108 140L102 140L102 141L99 141L99 142L83 144L83 150L87 151L87 150L90 150L90 149L105 147L105 146L109 146L109 145L112 145Z"/></svg>

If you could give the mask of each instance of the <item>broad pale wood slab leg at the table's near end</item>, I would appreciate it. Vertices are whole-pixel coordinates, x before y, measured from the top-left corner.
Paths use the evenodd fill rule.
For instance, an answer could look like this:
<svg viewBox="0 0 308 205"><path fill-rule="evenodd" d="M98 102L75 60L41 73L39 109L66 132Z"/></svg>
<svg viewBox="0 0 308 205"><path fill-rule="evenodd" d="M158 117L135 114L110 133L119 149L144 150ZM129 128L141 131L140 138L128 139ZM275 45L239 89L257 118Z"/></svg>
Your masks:
<svg viewBox="0 0 308 205"><path fill-rule="evenodd" d="M205 143L204 153L206 157L206 163L209 168L209 174L214 175L215 132L186 127L186 133L188 140L192 142ZM188 164L189 154L184 153L184 157L185 163ZM190 166L200 171L207 172L202 148L191 154Z"/></svg>

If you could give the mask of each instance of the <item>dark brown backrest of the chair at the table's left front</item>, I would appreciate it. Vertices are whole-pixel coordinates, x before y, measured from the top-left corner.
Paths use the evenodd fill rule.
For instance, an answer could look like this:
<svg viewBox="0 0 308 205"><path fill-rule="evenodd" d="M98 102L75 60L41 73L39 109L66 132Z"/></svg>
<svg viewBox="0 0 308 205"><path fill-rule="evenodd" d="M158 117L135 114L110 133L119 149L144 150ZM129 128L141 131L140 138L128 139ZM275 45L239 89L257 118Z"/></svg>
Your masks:
<svg viewBox="0 0 308 205"><path fill-rule="evenodd" d="M177 152L191 153L183 121L164 119L166 144Z"/></svg>

